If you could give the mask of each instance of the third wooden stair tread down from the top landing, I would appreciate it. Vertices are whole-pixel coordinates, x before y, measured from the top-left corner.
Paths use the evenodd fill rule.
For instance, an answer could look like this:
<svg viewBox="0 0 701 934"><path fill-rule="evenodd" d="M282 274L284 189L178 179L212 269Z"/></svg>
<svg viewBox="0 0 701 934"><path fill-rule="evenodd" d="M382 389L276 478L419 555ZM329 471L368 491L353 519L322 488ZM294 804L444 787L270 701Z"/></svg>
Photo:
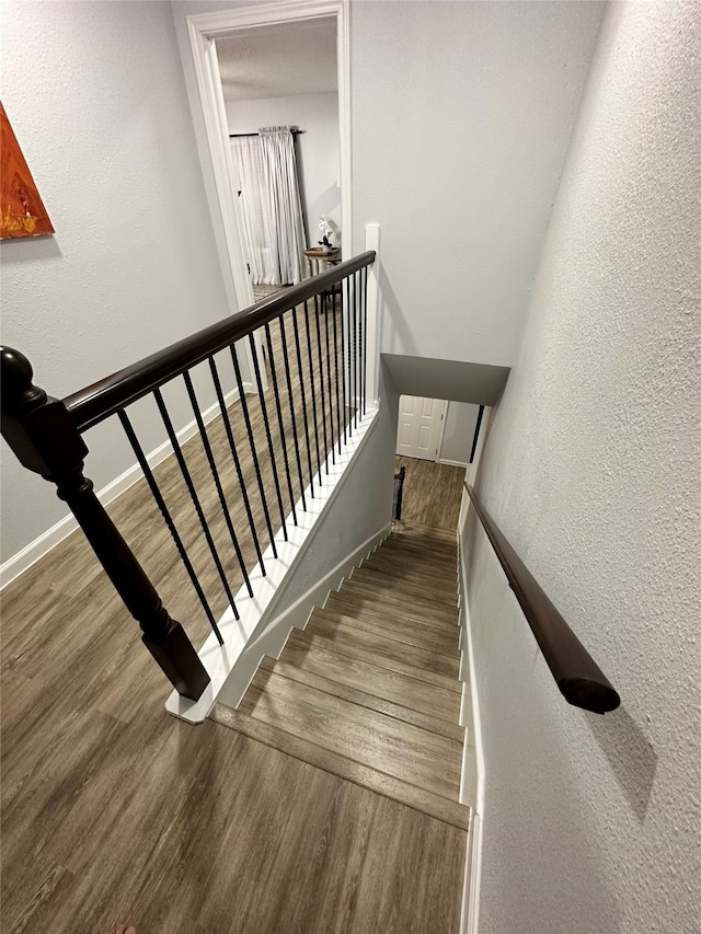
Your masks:
<svg viewBox="0 0 701 934"><path fill-rule="evenodd" d="M304 633L323 635L324 638L337 645L353 646L366 652L372 652L378 657L388 660L399 660L415 668L443 674L446 678L458 678L460 661L455 655L443 655L425 648L418 648L409 643L390 638L382 633L370 630L358 630L354 626L338 623L322 615L323 610L314 610L307 623Z"/></svg>

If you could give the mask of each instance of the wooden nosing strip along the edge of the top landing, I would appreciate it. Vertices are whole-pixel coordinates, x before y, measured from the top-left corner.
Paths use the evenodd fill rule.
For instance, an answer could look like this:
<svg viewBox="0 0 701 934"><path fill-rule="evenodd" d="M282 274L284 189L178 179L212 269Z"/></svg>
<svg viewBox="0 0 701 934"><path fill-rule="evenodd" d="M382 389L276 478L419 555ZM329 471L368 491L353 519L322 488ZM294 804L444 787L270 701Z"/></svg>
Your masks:
<svg viewBox="0 0 701 934"><path fill-rule="evenodd" d="M334 775L354 782L356 785L361 785L438 820L444 820L453 827L462 830L469 828L470 809L466 805L458 804L427 789L418 788L409 782L394 779L392 775L377 772L345 756L330 752L308 739L295 736L279 727L272 727L255 717L225 707L221 704L215 704L210 717L216 723L231 729L238 729L251 739L257 739L260 742L309 762L325 772L332 772Z"/></svg>

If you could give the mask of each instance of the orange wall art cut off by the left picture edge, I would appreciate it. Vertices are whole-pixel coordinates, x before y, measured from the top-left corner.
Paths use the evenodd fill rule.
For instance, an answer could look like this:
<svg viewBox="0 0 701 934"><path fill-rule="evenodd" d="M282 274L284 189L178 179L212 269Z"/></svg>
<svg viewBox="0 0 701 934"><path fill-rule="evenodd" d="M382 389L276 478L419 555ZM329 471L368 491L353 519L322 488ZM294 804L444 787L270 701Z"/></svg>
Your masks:
<svg viewBox="0 0 701 934"><path fill-rule="evenodd" d="M43 233L54 226L0 104L0 240Z"/></svg>

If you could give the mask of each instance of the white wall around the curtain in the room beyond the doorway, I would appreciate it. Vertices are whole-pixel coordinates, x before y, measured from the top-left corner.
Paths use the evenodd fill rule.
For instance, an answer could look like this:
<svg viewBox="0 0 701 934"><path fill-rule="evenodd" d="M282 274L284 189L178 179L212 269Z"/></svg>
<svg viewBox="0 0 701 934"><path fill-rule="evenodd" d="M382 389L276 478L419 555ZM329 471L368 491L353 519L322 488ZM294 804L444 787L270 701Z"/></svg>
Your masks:
<svg viewBox="0 0 701 934"><path fill-rule="evenodd" d="M307 222L307 245L315 246L323 215L341 230L338 187L338 95L296 94L262 101L228 101L229 132L256 132L266 126L297 126L300 193ZM335 241L334 241L335 242Z"/></svg>

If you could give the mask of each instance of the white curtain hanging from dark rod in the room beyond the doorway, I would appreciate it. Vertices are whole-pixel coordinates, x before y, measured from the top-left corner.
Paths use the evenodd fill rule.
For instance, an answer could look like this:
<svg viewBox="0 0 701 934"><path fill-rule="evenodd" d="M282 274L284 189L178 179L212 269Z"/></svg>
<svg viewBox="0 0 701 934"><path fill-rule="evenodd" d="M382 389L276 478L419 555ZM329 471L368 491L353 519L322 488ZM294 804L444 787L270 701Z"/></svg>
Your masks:
<svg viewBox="0 0 701 934"><path fill-rule="evenodd" d="M258 136L233 137L231 152L253 282L301 281L304 228L290 128L266 127Z"/></svg>

